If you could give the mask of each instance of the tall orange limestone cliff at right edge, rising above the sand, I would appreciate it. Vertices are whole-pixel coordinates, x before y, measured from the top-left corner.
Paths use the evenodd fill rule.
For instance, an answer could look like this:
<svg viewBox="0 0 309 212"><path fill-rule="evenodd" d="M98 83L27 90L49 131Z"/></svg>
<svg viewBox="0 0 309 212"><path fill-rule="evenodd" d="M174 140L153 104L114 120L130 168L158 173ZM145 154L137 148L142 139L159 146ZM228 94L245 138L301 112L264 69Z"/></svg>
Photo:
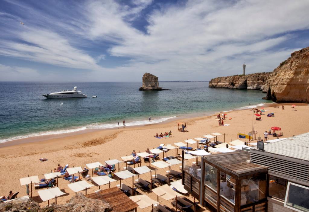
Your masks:
<svg viewBox="0 0 309 212"><path fill-rule="evenodd" d="M263 91L277 103L309 103L309 47L293 52L273 70Z"/></svg>

